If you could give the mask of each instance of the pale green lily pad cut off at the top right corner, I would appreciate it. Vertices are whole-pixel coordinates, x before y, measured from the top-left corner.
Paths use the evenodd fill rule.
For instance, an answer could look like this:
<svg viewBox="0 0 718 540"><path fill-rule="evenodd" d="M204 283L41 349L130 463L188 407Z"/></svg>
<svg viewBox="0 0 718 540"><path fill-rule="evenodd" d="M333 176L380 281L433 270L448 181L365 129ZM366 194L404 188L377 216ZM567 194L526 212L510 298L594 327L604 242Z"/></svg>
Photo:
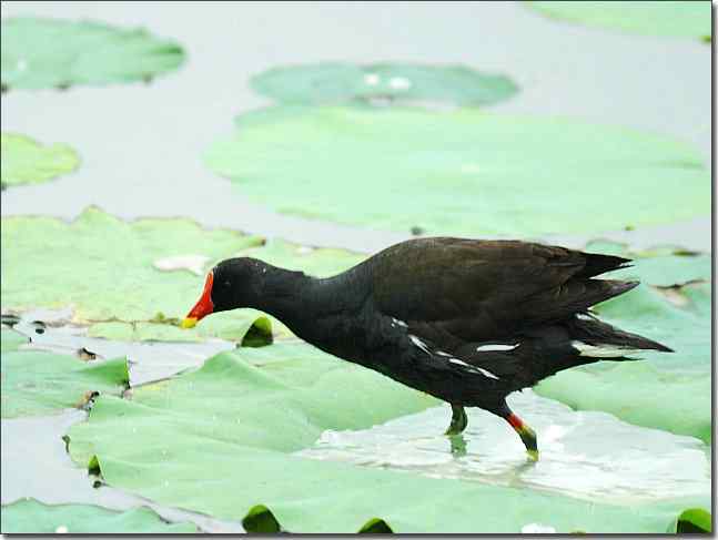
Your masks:
<svg viewBox="0 0 718 540"><path fill-rule="evenodd" d="M556 19L646 35L711 35L710 2L685 1L537 1L535 10Z"/></svg>

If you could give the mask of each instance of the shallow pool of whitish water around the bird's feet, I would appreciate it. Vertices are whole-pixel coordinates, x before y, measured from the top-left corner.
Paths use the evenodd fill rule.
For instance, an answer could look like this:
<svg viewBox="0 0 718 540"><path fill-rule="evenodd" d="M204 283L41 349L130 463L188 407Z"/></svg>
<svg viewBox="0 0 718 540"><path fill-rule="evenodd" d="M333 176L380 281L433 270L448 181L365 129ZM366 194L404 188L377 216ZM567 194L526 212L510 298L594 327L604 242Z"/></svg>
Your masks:
<svg viewBox="0 0 718 540"><path fill-rule="evenodd" d="M538 462L527 460L503 420L478 409L467 409L462 436L443 436L448 406L366 430L325 431L300 455L611 502L710 493L710 461L696 438L576 412L530 390L513 395L509 405L536 430Z"/></svg>

